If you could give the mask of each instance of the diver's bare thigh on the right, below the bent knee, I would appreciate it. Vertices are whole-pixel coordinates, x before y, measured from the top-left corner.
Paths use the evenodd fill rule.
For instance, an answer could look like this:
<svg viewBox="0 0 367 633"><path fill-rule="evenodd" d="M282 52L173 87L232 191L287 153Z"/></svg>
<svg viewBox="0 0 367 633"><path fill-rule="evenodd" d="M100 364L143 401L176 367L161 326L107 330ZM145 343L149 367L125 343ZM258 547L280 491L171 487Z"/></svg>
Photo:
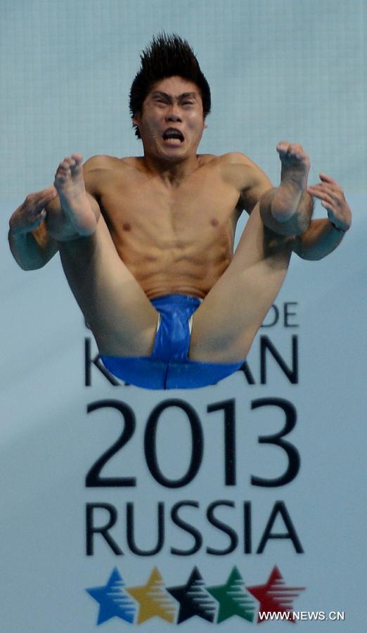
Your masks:
<svg viewBox="0 0 367 633"><path fill-rule="evenodd" d="M264 227L257 205L231 264L193 316L191 359L234 363L246 357L281 289L292 243Z"/></svg>

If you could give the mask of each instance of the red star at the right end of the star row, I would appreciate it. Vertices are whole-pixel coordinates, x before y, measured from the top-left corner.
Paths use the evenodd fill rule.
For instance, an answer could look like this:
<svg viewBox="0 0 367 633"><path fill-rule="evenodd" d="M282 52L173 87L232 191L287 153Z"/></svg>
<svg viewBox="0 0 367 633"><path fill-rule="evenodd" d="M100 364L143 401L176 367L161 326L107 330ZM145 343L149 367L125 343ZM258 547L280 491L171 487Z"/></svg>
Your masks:
<svg viewBox="0 0 367 633"><path fill-rule="evenodd" d="M305 587L286 587L281 572L274 567L265 584L257 584L255 587L246 587L246 589L259 601L259 611L285 613L292 611L293 599L297 598ZM264 621L258 616L257 622ZM288 621L295 622L293 618Z"/></svg>

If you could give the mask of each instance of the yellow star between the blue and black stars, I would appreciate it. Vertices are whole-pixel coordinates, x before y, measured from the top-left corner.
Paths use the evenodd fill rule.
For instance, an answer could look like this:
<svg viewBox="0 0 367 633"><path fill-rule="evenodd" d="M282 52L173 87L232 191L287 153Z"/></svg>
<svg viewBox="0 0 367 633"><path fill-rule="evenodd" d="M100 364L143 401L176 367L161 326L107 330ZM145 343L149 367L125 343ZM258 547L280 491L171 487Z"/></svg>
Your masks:
<svg viewBox="0 0 367 633"><path fill-rule="evenodd" d="M141 587L129 587L126 591L139 603L137 624L150 618L161 618L167 622L174 622L176 606L165 590L160 572L155 567L149 580Z"/></svg>

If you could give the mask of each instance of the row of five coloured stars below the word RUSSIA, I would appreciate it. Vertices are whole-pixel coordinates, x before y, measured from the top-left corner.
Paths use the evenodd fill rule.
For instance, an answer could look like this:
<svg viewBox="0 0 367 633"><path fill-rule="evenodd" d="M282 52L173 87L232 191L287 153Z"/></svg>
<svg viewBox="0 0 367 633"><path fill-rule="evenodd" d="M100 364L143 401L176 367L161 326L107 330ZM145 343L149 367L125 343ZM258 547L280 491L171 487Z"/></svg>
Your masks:
<svg viewBox="0 0 367 633"><path fill-rule="evenodd" d="M304 589L287 587L276 566L264 584L253 587L245 587L236 566L225 584L214 587L205 584L197 567L193 568L186 584L178 587L166 587L156 567L146 584L126 587L115 567L105 585L90 587L86 592L99 604L97 625L111 618L136 625L150 618L161 618L179 625L194 615L213 624L224 622L234 615L248 622L261 622L259 611L291 613L293 599Z"/></svg>

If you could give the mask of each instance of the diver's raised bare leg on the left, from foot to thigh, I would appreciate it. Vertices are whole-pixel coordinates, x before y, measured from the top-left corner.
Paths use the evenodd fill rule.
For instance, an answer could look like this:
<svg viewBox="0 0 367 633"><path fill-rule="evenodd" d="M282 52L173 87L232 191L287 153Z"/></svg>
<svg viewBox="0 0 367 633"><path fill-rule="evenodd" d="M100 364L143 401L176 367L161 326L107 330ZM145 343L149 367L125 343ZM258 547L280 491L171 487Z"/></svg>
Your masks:
<svg viewBox="0 0 367 633"><path fill-rule="evenodd" d="M158 315L117 254L96 201L85 191L81 158L73 155L60 163L55 186L62 206L51 207L49 227L101 354L147 356Z"/></svg>

